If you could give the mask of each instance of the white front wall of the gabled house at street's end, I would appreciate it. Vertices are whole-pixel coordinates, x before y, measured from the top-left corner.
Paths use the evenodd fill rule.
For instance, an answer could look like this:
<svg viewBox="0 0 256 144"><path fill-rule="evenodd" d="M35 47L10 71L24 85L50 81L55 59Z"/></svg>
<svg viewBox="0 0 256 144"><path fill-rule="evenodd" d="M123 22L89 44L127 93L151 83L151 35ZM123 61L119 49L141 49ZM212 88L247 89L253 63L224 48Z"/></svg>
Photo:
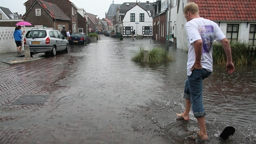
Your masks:
<svg viewBox="0 0 256 144"><path fill-rule="evenodd" d="M135 13L135 22L130 21L130 14L131 13ZM144 22L140 22L140 13L144 13ZM126 14L124 16L124 19L123 19L123 27L128 27L128 26L133 27L133 30L135 29L136 35L143 35L142 34L142 27L143 26L153 27L153 24L152 24L153 20L152 20L152 17L150 17L149 15L150 15L150 13L148 14L147 11L143 10L141 7L136 5L131 10L126 12ZM139 23L139 24L135 24L135 23ZM149 36L149 35L144 35L144 36Z"/></svg>

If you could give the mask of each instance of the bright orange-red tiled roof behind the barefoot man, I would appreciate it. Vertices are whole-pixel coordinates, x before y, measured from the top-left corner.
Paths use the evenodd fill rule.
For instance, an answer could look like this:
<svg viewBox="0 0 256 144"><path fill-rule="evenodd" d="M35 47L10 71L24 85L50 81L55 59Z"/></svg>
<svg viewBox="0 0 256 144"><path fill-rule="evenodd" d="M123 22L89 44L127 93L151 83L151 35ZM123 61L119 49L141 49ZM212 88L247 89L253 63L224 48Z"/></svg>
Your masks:
<svg viewBox="0 0 256 144"><path fill-rule="evenodd" d="M199 15L213 21L256 21L256 0L188 0Z"/></svg>

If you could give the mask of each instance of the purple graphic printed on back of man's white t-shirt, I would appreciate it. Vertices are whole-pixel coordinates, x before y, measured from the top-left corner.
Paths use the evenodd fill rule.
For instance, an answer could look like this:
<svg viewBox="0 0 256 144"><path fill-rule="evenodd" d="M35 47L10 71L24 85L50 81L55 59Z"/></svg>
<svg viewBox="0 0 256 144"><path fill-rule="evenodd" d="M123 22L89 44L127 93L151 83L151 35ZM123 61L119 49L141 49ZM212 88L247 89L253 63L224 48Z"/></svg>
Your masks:
<svg viewBox="0 0 256 144"><path fill-rule="evenodd" d="M212 51L212 43L213 43L213 26L207 25L202 26L199 29L199 33L203 40L203 52L202 53L210 53Z"/></svg>

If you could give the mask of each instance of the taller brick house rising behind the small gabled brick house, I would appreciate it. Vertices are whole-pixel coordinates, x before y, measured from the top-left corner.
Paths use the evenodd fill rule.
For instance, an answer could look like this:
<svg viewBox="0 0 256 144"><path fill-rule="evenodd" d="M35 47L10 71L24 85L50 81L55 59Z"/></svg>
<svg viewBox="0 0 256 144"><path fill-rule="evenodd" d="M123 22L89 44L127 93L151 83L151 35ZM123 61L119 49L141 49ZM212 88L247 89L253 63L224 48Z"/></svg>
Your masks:
<svg viewBox="0 0 256 144"><path fill-rule="evenodd" d="M26 7L26 11L28 11L29 7L34 4L35 0L28 0L23 5ZM49 3L56 4L70 19L68 21L68 25L66 27L66 30L71 30L71 32L77 32L77 10L75 4L73 4L69 0L44 0Z"/></svg>

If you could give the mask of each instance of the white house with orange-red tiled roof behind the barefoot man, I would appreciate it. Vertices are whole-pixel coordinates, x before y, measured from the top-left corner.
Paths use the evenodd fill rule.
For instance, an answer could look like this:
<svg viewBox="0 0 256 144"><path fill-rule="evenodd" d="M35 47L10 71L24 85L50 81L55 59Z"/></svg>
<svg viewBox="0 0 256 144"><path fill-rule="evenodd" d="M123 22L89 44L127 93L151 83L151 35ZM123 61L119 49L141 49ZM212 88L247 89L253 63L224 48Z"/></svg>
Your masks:
<svg viewBox="0 0 256 144"><path fill-rule="evenodd" d="M199 15L216 22L228 40L241 40L256 46L255 0L171 0L171 41L177 48L188 49L183 9L188 2L199 6ZM169 11L168 11L169 20ZM176 42L176 43L175 43Z"/></svg>

